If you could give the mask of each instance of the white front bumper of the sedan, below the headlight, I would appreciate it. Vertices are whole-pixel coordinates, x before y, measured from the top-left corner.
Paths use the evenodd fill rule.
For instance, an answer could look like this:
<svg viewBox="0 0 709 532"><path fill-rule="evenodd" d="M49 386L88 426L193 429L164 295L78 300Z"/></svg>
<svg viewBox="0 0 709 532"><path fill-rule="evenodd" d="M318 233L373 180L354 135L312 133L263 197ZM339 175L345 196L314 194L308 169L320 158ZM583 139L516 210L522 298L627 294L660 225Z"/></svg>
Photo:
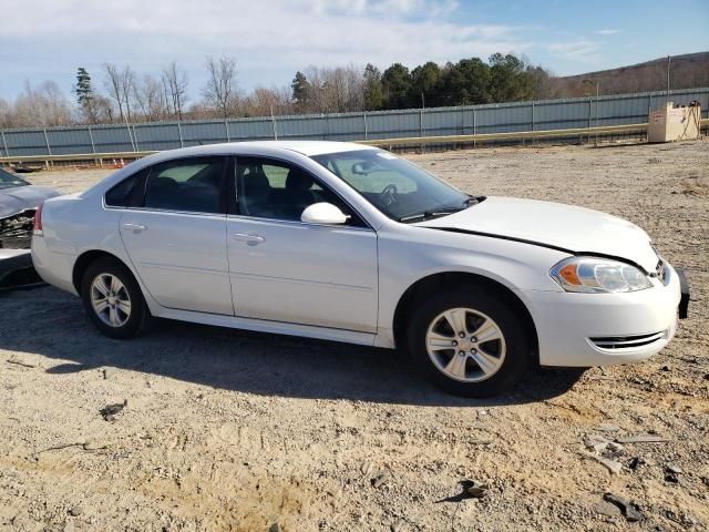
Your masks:
<svg viewBox="0 0 709 532"><path fill-rule="evenodd" d="M689 300L684 274L668 270L667 286L656 280L653 288L630 294L528 293L540 364L609 366L658 352L675 336L678 314L686 315Z"/></svg>

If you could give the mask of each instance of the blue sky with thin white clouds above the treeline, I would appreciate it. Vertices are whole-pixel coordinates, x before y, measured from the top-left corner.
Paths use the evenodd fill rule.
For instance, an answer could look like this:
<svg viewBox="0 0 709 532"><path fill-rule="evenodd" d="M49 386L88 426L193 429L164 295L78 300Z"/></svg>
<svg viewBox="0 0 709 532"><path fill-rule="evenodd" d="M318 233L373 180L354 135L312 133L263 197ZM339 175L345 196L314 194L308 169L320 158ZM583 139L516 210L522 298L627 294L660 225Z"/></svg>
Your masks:
<svg viewBox="0 0 709 532"><path fill-rule="evenodd" d="M76 66L103 89L105 62L160 73L172 60L198 98L207 54L233 55L239 84L290 83L308 65L414 66L493 52L558 75L709 51L709 0L0 0L0 98Z"/></svg>

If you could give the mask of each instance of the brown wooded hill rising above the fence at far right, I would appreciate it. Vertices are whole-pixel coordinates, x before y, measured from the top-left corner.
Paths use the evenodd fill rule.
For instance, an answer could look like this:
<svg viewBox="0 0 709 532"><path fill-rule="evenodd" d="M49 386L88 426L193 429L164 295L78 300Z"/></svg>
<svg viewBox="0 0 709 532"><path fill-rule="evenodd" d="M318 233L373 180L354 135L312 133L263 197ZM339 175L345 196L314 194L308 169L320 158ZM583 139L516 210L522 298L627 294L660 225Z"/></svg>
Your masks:
<svg viewBox="0 0 709 532"><path fill-rule="evenodd" d="M599 83L600 94L664 91L667 89L667 58L586 74L551 78L549 92L556 98L595 94L596 83ZM697 86L709 86L709 52L672 55L670 89Z"/></svg>

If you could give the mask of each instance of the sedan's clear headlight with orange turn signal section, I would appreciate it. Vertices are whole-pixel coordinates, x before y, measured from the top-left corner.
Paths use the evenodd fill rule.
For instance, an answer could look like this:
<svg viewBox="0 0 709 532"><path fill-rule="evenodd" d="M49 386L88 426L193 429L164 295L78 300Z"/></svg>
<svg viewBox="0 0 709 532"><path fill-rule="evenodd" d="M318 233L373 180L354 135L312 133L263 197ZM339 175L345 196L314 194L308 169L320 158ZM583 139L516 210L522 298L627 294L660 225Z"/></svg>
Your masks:
<svg viewBox="0 0 709 532"><path fill-rule="evenodd" d="M566 291L623 293L653 286L648 276L635 266L595 257L566 258L549 275Z"/></svg>

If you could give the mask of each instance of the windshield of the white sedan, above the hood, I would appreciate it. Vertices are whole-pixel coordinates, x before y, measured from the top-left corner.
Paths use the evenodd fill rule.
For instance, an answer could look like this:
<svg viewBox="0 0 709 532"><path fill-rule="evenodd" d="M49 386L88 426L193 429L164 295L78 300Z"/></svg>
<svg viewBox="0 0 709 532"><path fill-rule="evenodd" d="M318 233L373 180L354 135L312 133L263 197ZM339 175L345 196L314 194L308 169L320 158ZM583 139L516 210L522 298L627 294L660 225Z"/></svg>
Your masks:
<svg viewBox="0 0 709 532"><path fill-rule="evenodd" d="M312 158L399 222L443 216L475 202L423 168L383 150L328 153Z"/></svg>

